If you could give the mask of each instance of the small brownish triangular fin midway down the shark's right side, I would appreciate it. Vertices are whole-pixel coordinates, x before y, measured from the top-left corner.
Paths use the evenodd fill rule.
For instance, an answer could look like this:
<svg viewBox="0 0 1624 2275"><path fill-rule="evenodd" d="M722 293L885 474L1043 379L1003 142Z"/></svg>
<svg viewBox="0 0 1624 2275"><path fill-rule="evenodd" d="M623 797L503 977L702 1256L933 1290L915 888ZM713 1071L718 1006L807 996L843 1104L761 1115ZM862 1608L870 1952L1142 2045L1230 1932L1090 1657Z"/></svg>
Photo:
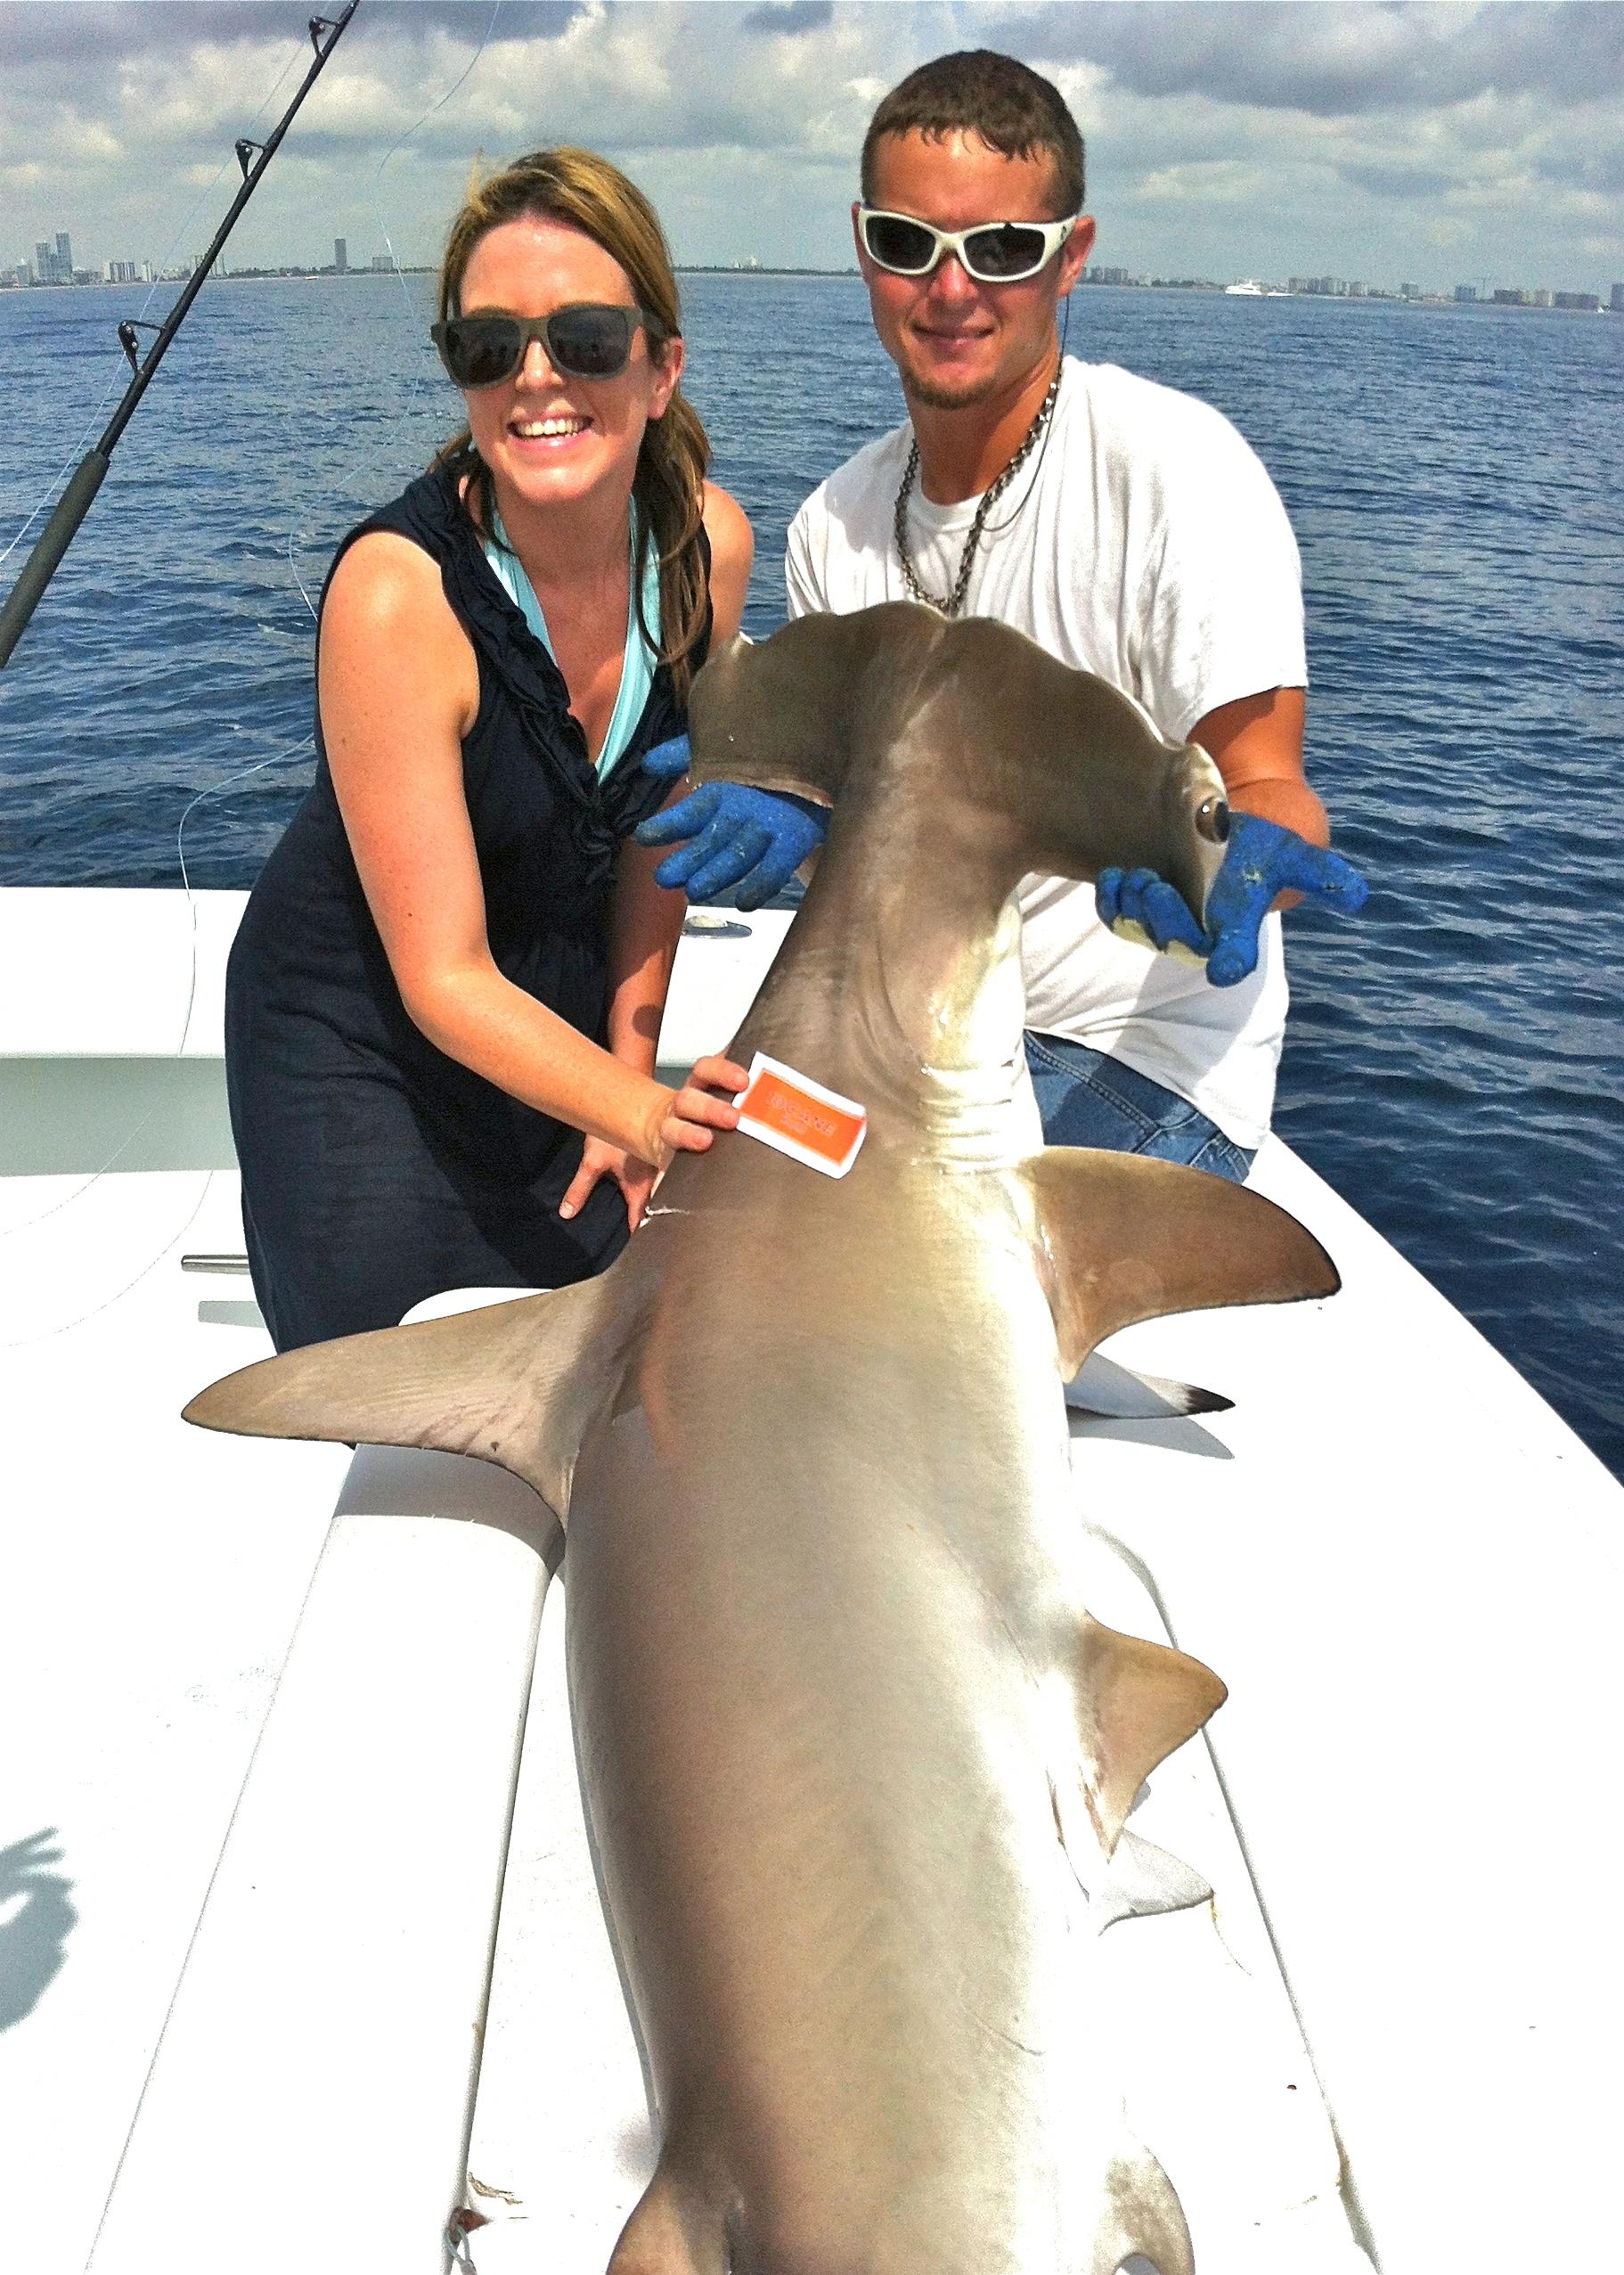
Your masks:
<svg viewBox="0 0 1624 2275"><path fill-rule="evenodd" d="M1119 1636L1087 1615L1076 1672L1083 1790L1110 1856L1144 1779L1194 1738L1226 1690L1199 1658L1167 1643Z"/></svg>

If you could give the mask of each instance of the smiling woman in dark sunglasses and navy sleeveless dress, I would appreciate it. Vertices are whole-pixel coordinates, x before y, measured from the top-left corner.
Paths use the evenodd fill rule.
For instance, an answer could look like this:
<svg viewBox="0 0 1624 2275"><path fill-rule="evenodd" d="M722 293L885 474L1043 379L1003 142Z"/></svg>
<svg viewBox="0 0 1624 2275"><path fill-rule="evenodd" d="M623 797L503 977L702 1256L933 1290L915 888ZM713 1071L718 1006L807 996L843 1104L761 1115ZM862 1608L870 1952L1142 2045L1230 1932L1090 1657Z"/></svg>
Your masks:
<svg viewBox="0 0 1624 2275"><path fill-rule="evenodd" d="M587 150L519 159L457 214L439 318L469 423L339 548L316 780L230 962L277 1349L603 1269L744 1085L726 1060L653 1078L685 903L628 842L751 571L678 391L660 223Z"/></svg>

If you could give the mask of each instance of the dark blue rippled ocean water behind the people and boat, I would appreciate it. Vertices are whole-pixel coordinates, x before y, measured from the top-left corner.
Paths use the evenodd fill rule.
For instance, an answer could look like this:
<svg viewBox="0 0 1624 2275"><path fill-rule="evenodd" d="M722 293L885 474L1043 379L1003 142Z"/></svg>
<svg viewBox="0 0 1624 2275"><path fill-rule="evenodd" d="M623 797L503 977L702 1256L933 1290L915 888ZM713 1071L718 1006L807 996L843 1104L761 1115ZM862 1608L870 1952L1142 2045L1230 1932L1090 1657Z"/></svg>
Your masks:
<svg viewBox="0 0 1624 2275"><path fill-rule="evenodd" d="M760 637L896 382L853 278L685 296ZM0 548L100 435L136 298L0 293ZM425 325L425 278L202 291L0 676L0 883L177 885L182 817L193 885L252 883L332 546L455 425ZM1301 541L1310 776L1372 899L1287 924L1278 1128L1624 1476L1624 321L1089 287L1071 348L1228 412Z"/></svg>

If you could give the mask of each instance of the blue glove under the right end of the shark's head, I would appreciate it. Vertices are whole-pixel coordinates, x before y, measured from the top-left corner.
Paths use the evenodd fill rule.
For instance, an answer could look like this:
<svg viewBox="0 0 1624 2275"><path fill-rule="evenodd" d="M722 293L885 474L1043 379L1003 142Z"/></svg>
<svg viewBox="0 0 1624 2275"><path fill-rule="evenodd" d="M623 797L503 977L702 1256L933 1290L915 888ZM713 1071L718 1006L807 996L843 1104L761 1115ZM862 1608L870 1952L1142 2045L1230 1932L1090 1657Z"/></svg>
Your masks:
<svg viewBox="0 0 1624 2275"><path fill-rule="evenodd" d="M1185 896L1153 869L1101 869L1094 905L1101 924L1124 937L1190 962L1205 960L1215 987L1233 987L1258 969L1258 933L1276 894L1301 892L1328 908L1358 915L1369 887L1351 862L1328 846L1310 846L1296 830L1231 808L1224 867L1208 894L1205 933Z"/></svg>

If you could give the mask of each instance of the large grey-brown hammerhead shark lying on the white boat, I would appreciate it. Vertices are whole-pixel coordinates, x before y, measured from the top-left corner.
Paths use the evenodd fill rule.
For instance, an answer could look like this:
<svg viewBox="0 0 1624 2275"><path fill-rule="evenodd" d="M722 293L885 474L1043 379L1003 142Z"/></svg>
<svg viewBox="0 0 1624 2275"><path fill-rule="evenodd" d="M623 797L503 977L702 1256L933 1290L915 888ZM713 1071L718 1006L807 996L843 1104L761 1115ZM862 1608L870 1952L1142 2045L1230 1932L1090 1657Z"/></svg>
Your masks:
<svg viewBox="0 0 1624 2275"><path fill-rule="evenodd" d="M1337 1274L1244 1188L1042 1147L1014 887L1144 864L1203 917L1224 783L1019 632L910 603L730 644L691 742L701 780L832 805L732 1056L867 1108L848 1174L719 1135L600 1279L187 1413L473 1454L566 1527L660 2143L610 2275L1190 2275L1071 1986L1101 1918L1208 1893L1126 1815L1224 1686L1089 1618L1062 1383L1133 1320Z"/></svg>

